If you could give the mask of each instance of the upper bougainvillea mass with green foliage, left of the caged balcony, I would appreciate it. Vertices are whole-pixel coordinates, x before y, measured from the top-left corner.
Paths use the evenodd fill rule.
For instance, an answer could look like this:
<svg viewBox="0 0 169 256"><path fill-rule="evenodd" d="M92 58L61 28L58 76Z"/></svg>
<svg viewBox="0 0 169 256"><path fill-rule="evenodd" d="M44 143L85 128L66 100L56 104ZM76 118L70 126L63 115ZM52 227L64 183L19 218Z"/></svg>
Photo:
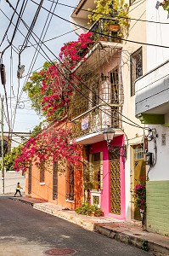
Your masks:
<svg viewBox="0 0 169 256"><path fill-rule="evenodd" d="M71 70L92 47L94 42L91 37L92 33L87 32L80 35L77 41L66 43L60 49L60 62L45 62L42 70L33 73L25 84L24 90L28 91L32 108L49 122L62 119L67 113L79 79L71 74Z"/></svg>

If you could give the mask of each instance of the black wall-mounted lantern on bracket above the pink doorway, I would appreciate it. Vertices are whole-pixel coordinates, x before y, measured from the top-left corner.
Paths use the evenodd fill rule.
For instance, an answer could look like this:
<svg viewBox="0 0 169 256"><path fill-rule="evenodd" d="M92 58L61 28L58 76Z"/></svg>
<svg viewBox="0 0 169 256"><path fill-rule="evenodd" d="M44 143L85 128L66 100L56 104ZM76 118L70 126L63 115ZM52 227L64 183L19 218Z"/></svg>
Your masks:
<svg viewBox="0 0 169 256"><path fill-rule="evenodd" d="M120 150L120 148L122 149L121 151L121 156L122 157L127 157L127 146L111 146L111 141L113 140L114 136L115 136L115 130L110 127L110 125L108 125L107 128L104 129L103 131L104 134L104 140L107 142L107 148L111 153L115 153L116 152L116 148L118 148Z"/></svg>

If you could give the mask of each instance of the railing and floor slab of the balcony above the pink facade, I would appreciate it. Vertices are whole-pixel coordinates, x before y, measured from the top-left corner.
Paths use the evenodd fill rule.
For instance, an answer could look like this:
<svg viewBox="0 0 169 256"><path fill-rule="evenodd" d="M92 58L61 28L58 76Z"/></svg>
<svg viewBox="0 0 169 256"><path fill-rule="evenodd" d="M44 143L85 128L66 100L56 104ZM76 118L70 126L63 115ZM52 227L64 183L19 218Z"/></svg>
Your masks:
<svg viewBox="0 0 169 256"><path fill-rule="evenodd" d="M103 131L111 125L119 135L121 133L121 108L107 107L99 105L90 112L82 113L79 117L72 120L72 135L76 143L91 144L104 140ZM116 134L118 132L116 131Z"/></svg>

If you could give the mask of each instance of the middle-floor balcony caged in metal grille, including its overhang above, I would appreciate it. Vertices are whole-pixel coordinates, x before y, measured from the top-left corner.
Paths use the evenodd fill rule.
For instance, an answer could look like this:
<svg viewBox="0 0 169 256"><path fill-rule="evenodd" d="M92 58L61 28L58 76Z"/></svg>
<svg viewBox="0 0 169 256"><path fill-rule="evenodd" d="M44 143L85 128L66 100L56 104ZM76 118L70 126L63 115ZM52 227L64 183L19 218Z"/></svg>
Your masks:
<svg viewBox="0 0 169 256"><path fill-rule="evenodd" d="M117 65L108 72L105 62L109 61L113 66L114 55ZM68 111L73 121L72 137L103 131L107 125L121 128L124 94L120 60L119 49L100 47L76 70L75 75L81 82L76 81L77 90Z"/></svg>

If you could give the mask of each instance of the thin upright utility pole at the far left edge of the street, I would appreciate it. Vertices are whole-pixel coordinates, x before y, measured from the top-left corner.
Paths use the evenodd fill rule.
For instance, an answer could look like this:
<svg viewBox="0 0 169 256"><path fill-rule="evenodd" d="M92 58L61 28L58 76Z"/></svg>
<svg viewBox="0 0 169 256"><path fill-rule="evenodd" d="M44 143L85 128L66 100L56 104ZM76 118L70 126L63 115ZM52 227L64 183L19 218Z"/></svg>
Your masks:
<svg viewBox="0 0 169 256"><path fill-rule="evenodd" d="M4 162L3 162L3 96L1 98L1 154L2 154L2 194L4 194Z"/></svg>

